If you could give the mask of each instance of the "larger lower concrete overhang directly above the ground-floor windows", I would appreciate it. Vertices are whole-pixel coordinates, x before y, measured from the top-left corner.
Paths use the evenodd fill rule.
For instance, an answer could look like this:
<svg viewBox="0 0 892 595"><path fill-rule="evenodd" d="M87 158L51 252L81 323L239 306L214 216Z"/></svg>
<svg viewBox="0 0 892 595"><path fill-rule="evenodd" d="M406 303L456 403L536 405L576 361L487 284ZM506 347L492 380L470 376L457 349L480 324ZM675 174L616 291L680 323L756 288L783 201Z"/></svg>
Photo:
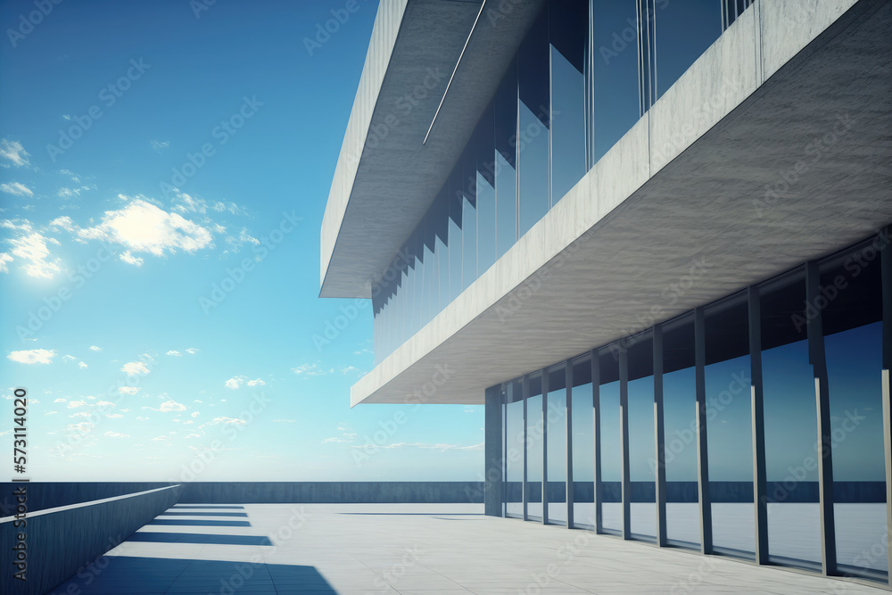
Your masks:
<svg viewBox="0 0 892 595"><path fill-rule="evenodd" d="M757 0L351 405L482 403L892 221L892 4L804 6Z"/></svg>

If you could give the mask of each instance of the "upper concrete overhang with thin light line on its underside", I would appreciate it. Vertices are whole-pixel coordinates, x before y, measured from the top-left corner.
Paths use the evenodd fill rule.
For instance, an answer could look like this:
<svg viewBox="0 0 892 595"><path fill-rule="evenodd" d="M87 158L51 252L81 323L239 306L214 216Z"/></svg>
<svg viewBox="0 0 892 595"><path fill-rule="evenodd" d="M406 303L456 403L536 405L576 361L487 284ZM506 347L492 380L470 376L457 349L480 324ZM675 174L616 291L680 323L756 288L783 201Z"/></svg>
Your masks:
<svg viewBox="0 0 892 595"><path fill-rule="evenodd" d="M320 297L371 296L542 4L382 0L322 219Z"/></svg>

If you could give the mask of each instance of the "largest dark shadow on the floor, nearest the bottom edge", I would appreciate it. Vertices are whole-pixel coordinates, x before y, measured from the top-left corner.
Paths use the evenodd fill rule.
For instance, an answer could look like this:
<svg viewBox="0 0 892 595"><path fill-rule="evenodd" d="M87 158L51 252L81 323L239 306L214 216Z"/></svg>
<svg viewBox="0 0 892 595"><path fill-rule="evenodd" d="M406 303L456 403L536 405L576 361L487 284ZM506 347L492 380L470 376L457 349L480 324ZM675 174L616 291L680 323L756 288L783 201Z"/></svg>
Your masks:
<svg viewBox="0 0 892 595"><path fill-rule="evenodd" d="M58 585L53 595L337 593L313 566L109 556ZM102 565L100 567L100 565Z"/></svg>

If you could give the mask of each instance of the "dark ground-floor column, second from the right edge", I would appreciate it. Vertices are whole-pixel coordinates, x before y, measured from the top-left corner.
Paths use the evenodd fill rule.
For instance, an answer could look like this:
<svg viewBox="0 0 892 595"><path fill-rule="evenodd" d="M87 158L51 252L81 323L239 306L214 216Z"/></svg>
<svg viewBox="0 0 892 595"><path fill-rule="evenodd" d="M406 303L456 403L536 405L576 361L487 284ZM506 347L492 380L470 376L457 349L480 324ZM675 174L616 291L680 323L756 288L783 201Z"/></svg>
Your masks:
<svg viewBox="0 0 892 595"><path fill-rule="evenodd" d="M816 304L820 291L820 272L814 260L805 265L805 302ZM833 451L830 430L830 391L827 386L827 359L824 353L822 312L815 310L807 319L808 360L814 370L814 398L818 419L818 507L821 522L821 571L836 574L836 525L833 516Z"/></svg>

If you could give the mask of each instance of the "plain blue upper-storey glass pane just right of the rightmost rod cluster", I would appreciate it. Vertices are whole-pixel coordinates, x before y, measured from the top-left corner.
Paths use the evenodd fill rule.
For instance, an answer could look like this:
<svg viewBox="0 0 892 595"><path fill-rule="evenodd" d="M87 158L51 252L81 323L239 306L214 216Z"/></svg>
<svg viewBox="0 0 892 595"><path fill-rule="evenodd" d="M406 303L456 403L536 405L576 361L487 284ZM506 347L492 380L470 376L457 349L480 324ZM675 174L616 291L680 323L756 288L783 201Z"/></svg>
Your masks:
<svg viewBox="0 0 892 595"><path fill-rule="evenodd" d="M722 4L715 0L657 2L656 23L658 99L722 34Z"/></svg>

